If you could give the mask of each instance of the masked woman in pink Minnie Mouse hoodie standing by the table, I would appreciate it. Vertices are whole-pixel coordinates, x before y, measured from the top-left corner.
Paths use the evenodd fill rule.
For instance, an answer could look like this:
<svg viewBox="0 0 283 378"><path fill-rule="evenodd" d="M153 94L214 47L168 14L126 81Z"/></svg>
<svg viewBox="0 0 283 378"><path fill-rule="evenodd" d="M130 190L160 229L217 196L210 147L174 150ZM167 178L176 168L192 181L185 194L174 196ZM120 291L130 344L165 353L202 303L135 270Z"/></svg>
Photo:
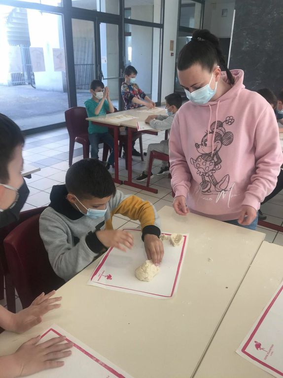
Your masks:
<svg viewBox="0 0 283 378"><path fill-rule="evenodd" d="M179 215L192 211L255 229L283 162L274 111L245 89L242 70L228 70L208 30L193 33L177 69L190 101L170 133L173 207Z"/></svg>

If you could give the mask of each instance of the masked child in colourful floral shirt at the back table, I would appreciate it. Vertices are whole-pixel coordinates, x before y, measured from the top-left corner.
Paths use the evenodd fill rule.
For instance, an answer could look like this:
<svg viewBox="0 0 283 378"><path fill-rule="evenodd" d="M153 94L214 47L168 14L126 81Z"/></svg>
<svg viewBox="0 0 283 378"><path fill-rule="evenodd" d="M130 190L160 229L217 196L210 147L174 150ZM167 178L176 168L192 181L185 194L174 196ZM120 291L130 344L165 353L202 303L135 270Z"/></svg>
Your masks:
<svg viewBox="0 0 283 378"><path fill-rule="evenodd" d="M125 110L137 109L141 106L146 106L149 109L155 107L155 102L141 90L136 83L138 71L133 66L125 68L125 81L121 86L121 94L125 103ZM135 149L135 141L132 144L132 156L141 156L140 152Z"/></svg>

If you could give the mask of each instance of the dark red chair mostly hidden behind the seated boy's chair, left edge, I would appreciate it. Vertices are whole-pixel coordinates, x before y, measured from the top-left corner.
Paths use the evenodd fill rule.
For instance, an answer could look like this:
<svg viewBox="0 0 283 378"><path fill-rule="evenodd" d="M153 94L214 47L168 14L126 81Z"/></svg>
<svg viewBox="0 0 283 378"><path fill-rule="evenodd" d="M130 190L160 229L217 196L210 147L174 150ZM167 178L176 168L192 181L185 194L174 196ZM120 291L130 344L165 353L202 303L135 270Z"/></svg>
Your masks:
<svg viewBox="0 0 283 378"><path fill-rule="evenodd" d="M40 214L46 207L36 208L32 210L20 212L19 220L9 224L6 227L0 228L0 294L1 298L4 297L4 287L6 292L7 309L11 312L16 312L15 302L15 286L8 269L7 260L4 252L3 241L5 237L20 223L29 219L35 214Z"/></svg>

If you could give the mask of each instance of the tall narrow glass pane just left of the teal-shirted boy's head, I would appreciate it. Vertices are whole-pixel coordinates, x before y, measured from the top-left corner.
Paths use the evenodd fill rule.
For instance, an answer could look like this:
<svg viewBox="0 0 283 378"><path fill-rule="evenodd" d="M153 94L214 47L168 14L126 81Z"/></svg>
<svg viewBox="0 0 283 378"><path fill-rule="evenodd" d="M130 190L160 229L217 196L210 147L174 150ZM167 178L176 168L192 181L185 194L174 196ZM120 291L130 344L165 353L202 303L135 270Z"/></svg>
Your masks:
<svg viewBox="0 0 283 378"><path fill-rule="evenodd" d="M72 19L72 35L77 106L84 106L84 102L91 97L89 85L97 79L94 23Z"/></svg>

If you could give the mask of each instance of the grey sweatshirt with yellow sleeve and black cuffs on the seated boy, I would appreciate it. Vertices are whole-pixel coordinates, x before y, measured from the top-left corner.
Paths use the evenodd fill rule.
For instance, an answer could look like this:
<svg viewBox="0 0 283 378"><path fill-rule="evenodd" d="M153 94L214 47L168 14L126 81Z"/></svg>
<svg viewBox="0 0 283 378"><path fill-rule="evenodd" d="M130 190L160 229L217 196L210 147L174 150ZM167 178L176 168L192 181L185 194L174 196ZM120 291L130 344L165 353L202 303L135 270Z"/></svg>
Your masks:
<svg viewBox="0 0 283 378"><path fill-rule="evenodd" d="M99 241L96 231L113 229L112 216L123 214L141 222L142 240L145 234L159 237L159 216L153 205L137 196L117 190L103 218L92 219L75 210L66 199L65 185L55 185L51 203L39 218L39 233L55 273L65 281L84 269L107 248Z"/></svg>

